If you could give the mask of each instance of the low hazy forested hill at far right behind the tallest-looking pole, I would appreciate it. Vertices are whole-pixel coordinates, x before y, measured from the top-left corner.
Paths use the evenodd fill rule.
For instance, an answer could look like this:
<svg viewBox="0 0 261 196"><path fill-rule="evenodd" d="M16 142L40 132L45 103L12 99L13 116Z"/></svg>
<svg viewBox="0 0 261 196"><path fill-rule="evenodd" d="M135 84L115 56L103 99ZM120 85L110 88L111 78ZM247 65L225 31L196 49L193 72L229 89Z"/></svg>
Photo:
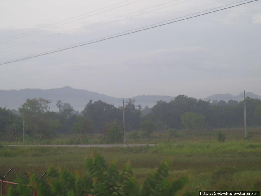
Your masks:
<svg viewBox="0 0 261 196"><path fill-rule="evenodd" d="M258 96L251 92L247 92L246 97L250 97L253 99L257 99L257 98L261 99L261 96ZM217 101L223 100L223 101L228 102L228 100L242 101L243 99L244 99L244 93L241 93L236 96L231 95L231 94L216 94L216 95L209 96L209 97L205 98L204 100L205 101L210 100L210 102L212 102L213 100L217 100Z"/></svg>

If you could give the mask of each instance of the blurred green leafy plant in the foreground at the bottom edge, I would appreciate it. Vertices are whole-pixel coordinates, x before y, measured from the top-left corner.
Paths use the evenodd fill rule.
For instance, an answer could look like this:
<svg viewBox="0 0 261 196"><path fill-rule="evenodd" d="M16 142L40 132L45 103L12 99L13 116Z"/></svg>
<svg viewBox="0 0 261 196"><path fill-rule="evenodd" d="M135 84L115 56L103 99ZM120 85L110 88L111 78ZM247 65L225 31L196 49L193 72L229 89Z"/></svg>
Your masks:
<svg viewBox="0 0 261 196"><path fill-rule="evenodd" d="M71 173L63 168L55 170L50 166L47 170L47 180L30 176L29 186L25 186L20 178L16 189L9 188L8 195L30 195L35 188L38 195L175 195L184 188L186 177L174 180L169 176L170 161L164 163L155 173L149 175L143 184L137 183L133 176L130 162L127 162L120 171L115 162L108 165L100 154L86 159L86 175L79 172ZM32 191L31 191L32 193ZM185 195L196 195L186 192Z"/></svg>

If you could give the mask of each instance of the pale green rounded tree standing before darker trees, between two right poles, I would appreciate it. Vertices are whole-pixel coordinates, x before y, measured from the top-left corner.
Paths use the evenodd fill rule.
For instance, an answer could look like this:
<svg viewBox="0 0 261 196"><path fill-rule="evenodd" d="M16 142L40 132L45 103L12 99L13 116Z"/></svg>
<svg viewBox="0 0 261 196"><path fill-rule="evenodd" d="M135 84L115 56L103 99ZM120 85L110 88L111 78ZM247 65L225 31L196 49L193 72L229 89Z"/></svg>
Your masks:
<svg viewBox="0 0 261 196"><path fill-rule="evenodd" d="M194 112L186 112L180 116L182 125L188 130L199 130L206 127L205 116Z"/></svg>

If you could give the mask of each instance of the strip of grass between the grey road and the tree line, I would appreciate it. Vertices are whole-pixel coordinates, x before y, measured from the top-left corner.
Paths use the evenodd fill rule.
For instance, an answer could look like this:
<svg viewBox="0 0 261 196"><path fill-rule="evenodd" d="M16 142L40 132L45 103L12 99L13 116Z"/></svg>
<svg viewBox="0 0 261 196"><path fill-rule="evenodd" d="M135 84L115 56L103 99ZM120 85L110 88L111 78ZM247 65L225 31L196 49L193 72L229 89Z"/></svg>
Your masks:
<svg viewBox="0 0 261 196"><path fill-rule="evenodd" d="M175 135L167 133L167 131L153 132L149 138L131 139L130 132L126 132L127 144L140 144L140 143L180 143L180 142L212 142L217 141L217 130L221 130L226 135L226 141L243 141L244 140L244 127L242 128L222 128L201 131L187 132L185 130L176 130ZM253 137L250 141L261 142L261 127L248 127L248 134ZM53 139L46 140L32 140L25 138L25 141L5 142L4 144L105 144L100 134L91 134L83 137L77 133L57 134Z"/></svg>

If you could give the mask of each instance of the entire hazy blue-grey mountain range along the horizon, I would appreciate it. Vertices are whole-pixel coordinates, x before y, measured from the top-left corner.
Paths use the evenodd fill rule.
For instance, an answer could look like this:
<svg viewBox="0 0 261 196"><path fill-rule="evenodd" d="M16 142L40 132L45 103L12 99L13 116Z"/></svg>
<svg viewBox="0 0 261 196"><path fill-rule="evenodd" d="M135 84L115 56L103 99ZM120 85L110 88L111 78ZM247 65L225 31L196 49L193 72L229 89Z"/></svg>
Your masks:
<svg viewBox="0 0 261 196"><path fill-rule="evenodd" d="M260 96L255 95L253 93L246 93L246 96L251 98L260 98ZM90 92L87 90L73 89L72 87L63 87L57 89L21 89L21 90L0 90L0 107L7 107L8 109L18 109L23 103L26 102L26 99L32 98L45 98L51 100L49 104L51 111L57 111L56 102L61 100L63 103L70 103L70 105L75 110L83 110L85 105L89 102L89 100L97 101L102 100L106 103L113 104L115 107L122 106L122 100L126 101L129 98L116 98L107 96L104 94L99 94L95 92ZM142 107L148 106L153 107L156 104L156 101L166 101L169 102L171 99L175 97L171 96L157 96L157 95L141 95L131 97L131 99L135 99L135 106L140 104ZM231 94L218 94L212 95L210 97L205 98L204 100L243 100L243 94L238 96L233 96Z"/></svg>

